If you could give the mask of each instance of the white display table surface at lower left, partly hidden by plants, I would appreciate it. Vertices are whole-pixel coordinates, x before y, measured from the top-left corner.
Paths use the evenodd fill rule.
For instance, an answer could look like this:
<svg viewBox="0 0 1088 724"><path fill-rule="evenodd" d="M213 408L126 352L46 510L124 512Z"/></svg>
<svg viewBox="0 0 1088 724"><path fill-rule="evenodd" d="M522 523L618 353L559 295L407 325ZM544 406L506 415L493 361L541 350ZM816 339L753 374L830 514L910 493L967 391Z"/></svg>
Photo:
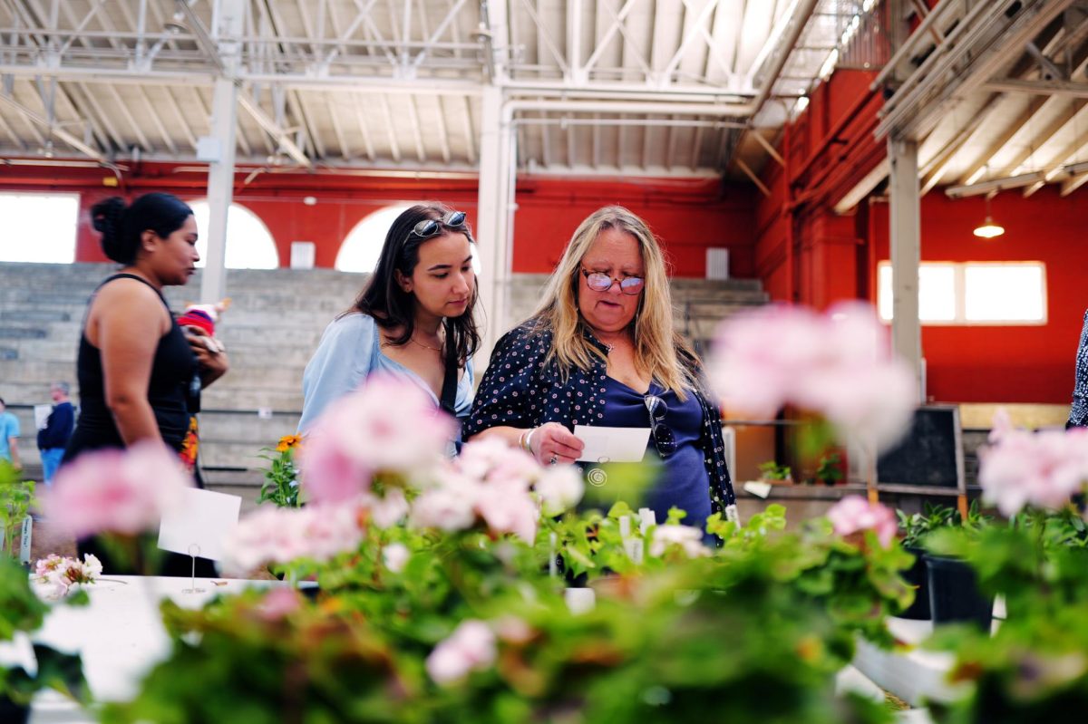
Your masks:
<svg viewBox="0 0 1088 724"><path fill-rule="evenodd" d="M286 584L279 581L197 578L196 587L202 592L186 594L183 590L191 588L191 578L107 576L86 587L89 606L57 606L33 640L59 651L78 651L96 700L128 700L139 690L144 674L170 653L170 637L159 616L163 599L197 609L221 594L283 585ZM20 636L0 646L0 659L24 665L32 662L30 638ZM32 724L94 721L53 691L40 694L30 713Z"/></svg>

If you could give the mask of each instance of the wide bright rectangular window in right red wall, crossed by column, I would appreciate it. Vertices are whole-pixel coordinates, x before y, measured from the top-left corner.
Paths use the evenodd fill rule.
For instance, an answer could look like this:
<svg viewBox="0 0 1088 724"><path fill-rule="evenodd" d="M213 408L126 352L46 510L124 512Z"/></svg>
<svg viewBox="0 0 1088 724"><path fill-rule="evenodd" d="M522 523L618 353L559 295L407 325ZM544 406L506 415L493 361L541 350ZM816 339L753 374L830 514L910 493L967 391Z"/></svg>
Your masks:
<svg viewBox="0 0 1088 724"><path fill-rule="evenodd" d="M891 264L877 267L877 309L892 317ZM1047 269L1041 262L924 262L918 269L923 324L1047 323Z"/></svg>

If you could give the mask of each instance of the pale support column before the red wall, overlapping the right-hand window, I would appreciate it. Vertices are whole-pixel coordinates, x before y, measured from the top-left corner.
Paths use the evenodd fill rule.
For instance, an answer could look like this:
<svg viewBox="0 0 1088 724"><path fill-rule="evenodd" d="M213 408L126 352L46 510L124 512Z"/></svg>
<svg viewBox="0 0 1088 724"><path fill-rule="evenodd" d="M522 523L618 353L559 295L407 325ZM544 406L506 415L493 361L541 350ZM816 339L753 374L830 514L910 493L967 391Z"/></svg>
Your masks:
<svg viewBox="0 0 1088 724"><path fill-rule="evenodd" d="M923 388L922 325L918 321L918 266L922 260L922 204L918 195L917 141L888 138L891 163L892 348L914 370L920 401Z"/></svg>

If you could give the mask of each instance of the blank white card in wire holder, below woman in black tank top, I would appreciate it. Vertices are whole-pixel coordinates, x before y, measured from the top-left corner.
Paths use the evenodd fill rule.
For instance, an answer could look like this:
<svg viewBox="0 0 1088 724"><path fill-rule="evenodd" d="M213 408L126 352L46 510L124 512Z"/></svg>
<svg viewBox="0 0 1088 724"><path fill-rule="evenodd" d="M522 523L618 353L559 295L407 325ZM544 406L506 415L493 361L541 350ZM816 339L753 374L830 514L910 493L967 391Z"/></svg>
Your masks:
<svg viewBox="0 0 1088 724"><path fill-rule="evenodd" d="M240 509L238 496L186 488L177 508L162 516L159 548L189 556L196 544L200 558L221 561L223 542L238 525Z"/></svg>

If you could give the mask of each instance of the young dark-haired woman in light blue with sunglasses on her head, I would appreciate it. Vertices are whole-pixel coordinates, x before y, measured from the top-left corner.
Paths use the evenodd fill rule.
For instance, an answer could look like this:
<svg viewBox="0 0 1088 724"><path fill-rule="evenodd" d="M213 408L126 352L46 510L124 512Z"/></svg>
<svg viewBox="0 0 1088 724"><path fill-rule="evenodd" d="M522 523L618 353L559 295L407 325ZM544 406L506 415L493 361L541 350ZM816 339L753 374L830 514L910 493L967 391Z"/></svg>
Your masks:
<svg viewBox="0 0 1088 724"><path fill-rule="evenodd" d="M480 342L473 246L463 212L423 203L397 216L355 304L329 325L306 365L299 430L379 371L418 384L435 407L468 414Z"/></svg>

